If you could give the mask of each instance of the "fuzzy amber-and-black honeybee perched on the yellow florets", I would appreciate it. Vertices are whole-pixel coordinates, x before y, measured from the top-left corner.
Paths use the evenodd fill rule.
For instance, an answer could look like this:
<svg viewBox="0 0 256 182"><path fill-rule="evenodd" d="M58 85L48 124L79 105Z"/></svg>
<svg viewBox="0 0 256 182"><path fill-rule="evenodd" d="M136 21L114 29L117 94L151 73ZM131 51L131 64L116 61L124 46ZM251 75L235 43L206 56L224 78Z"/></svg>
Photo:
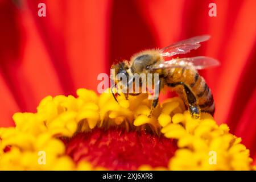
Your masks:
<svg viewBox="0 0 256 182"><path fill-rule="evenodd" d="M210 38L208 35L196 36L181 42L172 44L162 49L152 49L133 55L130 61L122 61L113 64L116 73L129 76L131 73L158 73L158 89L164 85L170 86L183 99L192 118L199 118L201 111L214 114L215 104L213 95L204 78L199 75L197 69L205 69L219 64L216 59L205 56L173 58L197 49L201 42ZM126 87L133 84L134 80L127 80ZM112 92L113 93L113 92ZM129 93L130 95L135 95ZM128 99L128 94L127 99ZM113 93L115 100L115 94ZM117 101L118 102L118 101ZM152 110L158 105L158 97L152 100Z"/></svg>

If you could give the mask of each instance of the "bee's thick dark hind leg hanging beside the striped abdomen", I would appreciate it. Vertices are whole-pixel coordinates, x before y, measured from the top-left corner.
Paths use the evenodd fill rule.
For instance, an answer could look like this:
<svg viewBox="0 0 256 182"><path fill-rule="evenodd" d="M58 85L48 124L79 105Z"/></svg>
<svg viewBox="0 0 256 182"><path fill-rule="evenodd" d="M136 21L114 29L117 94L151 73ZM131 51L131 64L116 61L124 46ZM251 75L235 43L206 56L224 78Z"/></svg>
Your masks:
<svg viewBox="0 0 256 182"><path fill-rule="evenodd" d="M175 87L177 85L183 85L185 90L185 95L187 97L189 112L192 115L192 118L197 119L200 118L200 107L197 105L196 96L191 92L191 89L184 82L174 82L171 84L167 84L168 86Z"/></svg>

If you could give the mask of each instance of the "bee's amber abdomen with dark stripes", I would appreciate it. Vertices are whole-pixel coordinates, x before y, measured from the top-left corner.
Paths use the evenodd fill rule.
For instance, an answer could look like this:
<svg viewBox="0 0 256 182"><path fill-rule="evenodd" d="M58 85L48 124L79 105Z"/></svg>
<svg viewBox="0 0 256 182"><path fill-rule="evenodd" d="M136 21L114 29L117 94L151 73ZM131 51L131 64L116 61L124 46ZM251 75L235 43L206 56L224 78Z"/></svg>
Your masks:
<svg viewBox="0 0 256 182"><path fill-rule="evenodd" d="M183 82L187 88L191 90L196 98L196 105L199 105L201 111L214 114L215 104L207 83L204 78L199 75L196 69L172 68L167 73L167 84L175 82ZM183 100L188 102L191 96L185 96L184 86L175 86L174 90L180 95Z"/></svg>

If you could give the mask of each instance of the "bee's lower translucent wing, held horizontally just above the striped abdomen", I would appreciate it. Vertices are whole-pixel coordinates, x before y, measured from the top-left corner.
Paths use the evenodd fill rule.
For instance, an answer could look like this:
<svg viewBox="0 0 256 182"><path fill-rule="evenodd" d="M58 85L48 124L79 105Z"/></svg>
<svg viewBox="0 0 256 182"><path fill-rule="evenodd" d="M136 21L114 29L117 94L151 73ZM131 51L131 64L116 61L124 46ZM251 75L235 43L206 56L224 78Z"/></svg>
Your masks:
<svg viewBox="0 0 256 182"><path fill-rule="evenodd" d="M205 69L209 67L215 67L220 63L211 57L197 56L197 57L185 57L180 59L172 59L170 61L164 61L164 63L154 64L150 69L164 69L164 68L195 68Z"/></svg>

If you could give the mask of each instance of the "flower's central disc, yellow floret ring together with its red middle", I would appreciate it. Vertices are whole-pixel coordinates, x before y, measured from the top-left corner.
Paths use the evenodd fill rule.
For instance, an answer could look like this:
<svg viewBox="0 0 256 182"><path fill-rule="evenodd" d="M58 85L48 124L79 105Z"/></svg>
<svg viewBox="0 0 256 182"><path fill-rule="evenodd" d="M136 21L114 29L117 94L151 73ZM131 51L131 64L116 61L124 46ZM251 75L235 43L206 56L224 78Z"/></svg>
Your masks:
<svg viewBox="0 0 256 182"><path fill-rule="evenodd" d="M252 169L241 138L208 113L192 119L179 97L148 118L147 94L121 95L119 104L111 93L79 89L77 96L48 96L36 113L15 113L16 127L0 129L0 169Z"/></svg>

